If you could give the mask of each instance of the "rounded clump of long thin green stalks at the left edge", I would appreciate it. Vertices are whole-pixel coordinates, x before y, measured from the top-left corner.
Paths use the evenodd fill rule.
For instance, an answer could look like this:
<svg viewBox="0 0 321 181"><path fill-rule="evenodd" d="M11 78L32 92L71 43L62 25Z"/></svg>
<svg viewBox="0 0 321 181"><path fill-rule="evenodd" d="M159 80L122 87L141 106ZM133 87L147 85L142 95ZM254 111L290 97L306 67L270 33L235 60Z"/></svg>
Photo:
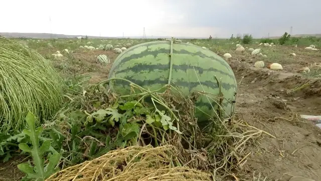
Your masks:
<svg viewBox="0 0 321 181"><path fill-rule="evenodd" d="M62 82L51 63L16 41L0 37L0 132L24 128L28 112L46 119L62 100Z"/></svg>

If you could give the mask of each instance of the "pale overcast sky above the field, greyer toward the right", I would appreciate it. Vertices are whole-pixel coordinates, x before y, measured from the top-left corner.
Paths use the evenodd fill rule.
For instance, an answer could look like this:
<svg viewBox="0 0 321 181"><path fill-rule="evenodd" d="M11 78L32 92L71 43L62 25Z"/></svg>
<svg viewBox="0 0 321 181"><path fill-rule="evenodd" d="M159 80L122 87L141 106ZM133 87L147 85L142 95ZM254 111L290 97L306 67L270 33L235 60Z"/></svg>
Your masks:
<svg viewBox="0 0 321 181"><path fill-rule="evenodd" d="M320 0L3 0L0 32L254 37L321 33ZM51 19L51 23L50 23Z"/></svg>

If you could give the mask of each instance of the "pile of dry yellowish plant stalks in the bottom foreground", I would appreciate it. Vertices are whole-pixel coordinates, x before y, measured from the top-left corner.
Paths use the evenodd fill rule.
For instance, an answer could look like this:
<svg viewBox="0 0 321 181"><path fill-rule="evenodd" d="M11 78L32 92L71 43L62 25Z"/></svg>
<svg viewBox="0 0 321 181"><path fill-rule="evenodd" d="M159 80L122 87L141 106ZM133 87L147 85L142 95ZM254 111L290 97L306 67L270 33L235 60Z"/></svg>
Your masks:
<svg viewBox="0 0 321 181"><path fill-rule="evenodd" d="M68 167L47 181L69 180L212 180L211 175L180 166L174 146L131 146Z"/></svg>

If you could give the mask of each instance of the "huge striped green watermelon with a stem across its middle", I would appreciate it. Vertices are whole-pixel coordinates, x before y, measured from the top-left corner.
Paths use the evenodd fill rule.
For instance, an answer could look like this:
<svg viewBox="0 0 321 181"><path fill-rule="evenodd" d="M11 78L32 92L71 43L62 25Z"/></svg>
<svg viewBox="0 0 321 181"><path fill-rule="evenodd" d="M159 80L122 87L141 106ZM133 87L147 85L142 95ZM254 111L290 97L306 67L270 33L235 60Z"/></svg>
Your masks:
<svg viewBox="0 0 321 181"><path fill-rule="evenodd" d="M114 61L109 78L125 78L151 91L159 89L168 83L170 49L170 41L147 42L132 46ZM237 92L237 82L230 65L210 50L181 42L173 44L171 84L178 86L184 95L188 96L193 91L202 92L203 89L207 93L219 95L219 84L215 76L222 80L223 109L226 113L224 117L228 118L234 111L233 102ZM110 87L120 95L131 93L129 83L126 81L111 81ZM217 103L210 101L213 108L217 109ZM198 97L195 105L211 116L215 114L205 96ZM198 109L195 116L200 127L208 124L206 122L208 117Z"/></svg>

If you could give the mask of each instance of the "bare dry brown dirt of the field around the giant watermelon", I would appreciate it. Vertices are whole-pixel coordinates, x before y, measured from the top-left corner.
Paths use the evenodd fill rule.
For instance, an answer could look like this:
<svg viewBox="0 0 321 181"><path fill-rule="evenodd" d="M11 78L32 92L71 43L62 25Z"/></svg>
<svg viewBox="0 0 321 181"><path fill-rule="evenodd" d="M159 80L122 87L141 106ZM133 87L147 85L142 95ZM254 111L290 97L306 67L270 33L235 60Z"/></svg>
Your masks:
<svg viewBox="0 0 321 181"><path fill-rule="evenodd" d="M257 45L256 45L257 46ZM55 50L39 48L44 57ZM215 48L212 49L216 51ZM249 53L236 53L227 48L217 52L231 52L228 63L234 70L239 85L236 114L249 125L265 130L277 139L262 135L247 145L248 161L244 165L248 180L253 180L253 172L267 177L266 180L288 180L291 175L305 176L321 180L321 129L311 120L303 120L300 115L321 115L321 51L311 53L304 47L277 46L268 54L266 63L281 63L283 70L255 68L254 62L264 57L254 57ZM269 52L269 51L266 51ZM289 53L296 53L291 57ZM75 73L91 75L91 82L108 78L111 66L99 66L95 56L108 55L112 62L118 54L113 51L86 51L77 49L72 53L73 64L68 68ZM61 63L61 62L60 62ZM60 63L56 62L59 68ZM310 66L314 74L297 72ZM242 77L244 77L242 79ZM17 158L19 160L19 158ZM17 162L17 161L16 161ZM18 180L21 176L16 162L0 166L0 180ZM9 165L11 165L11 168ZM263 179L262 179L263 180Z"/></svg>

